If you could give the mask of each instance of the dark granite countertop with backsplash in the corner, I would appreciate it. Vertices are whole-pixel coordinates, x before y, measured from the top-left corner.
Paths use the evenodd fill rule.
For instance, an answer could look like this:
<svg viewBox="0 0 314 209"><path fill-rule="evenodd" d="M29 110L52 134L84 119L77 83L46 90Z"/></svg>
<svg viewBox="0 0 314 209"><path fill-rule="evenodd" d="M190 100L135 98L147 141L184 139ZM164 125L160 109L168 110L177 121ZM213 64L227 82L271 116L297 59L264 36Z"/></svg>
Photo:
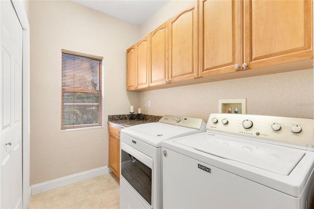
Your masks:
<svg viewBox="0 0 314 209"><path fill-rule="evenodd" d="M108 115L108 124L119 126L121 128L127 128L130 126L140 125L144 123L157 122L162 116L156 115ZM131 120L130 120L131 119Z"/></svg>

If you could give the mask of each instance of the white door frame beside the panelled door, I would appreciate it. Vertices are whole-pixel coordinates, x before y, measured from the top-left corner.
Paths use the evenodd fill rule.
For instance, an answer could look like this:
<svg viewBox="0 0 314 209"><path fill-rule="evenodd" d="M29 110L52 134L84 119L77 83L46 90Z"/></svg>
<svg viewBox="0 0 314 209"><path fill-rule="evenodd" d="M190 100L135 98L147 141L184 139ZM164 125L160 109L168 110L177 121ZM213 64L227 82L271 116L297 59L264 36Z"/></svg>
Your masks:
<svg viewBox="0 0 314 209"><path fill-rule="evenodd" d="M26 10L22 1L11 0L16 14L23 28L23 67L22 67L22 146L23 146L23 208L27 209L31 197L31 187L29 185L29 24L26 16ZM28 4L28 2L26 2ZM1 1L0 1L1 6ZM1 201L1 200L0 200Z"/></svg>

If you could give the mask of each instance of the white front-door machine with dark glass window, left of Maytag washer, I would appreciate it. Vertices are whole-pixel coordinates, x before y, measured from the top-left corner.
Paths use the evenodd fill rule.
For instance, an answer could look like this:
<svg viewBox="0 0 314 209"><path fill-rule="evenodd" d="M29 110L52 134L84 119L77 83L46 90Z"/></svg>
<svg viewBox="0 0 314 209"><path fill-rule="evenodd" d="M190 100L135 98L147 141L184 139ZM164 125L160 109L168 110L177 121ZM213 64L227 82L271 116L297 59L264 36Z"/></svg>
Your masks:
<svg viewBox="0 0 314 209"><path fill-rule="evenodd" d="M171 115L122 129L120 208L160 209L162 141L205 131L203 119Z"/></svg>

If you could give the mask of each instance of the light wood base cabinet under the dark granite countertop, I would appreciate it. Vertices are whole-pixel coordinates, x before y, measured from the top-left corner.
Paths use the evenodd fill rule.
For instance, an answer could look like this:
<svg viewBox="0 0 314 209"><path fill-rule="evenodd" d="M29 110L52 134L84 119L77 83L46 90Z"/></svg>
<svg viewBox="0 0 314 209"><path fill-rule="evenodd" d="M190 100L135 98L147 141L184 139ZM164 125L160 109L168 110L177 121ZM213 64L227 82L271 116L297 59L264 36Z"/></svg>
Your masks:
<svg viewBox="0 0 314 209"><path fill-rule="evenodd" d="M121 127L109 126L109 168L120 179L120 131Z"/></svg>

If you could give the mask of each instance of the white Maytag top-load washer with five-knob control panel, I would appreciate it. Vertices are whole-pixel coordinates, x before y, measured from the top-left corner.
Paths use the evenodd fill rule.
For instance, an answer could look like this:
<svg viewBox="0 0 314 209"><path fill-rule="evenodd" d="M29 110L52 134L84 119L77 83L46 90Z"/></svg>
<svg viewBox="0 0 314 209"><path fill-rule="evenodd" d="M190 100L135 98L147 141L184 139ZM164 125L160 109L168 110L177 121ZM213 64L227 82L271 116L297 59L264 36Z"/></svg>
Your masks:
<svg viewBox="0 0 314 209"><path fill-rule="evenodd" d="M313 209L313 119L211 114L163 141L164 209Z"/></svg>

